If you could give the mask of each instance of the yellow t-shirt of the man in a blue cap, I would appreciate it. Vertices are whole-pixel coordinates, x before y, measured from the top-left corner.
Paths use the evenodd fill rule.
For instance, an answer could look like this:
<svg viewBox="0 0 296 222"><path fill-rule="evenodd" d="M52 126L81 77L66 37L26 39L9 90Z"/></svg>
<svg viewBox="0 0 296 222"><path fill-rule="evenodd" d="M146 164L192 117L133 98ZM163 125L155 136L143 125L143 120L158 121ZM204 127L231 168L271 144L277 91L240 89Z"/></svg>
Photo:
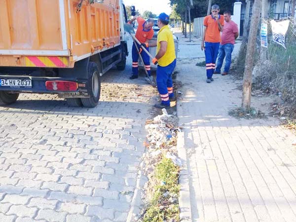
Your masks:
<svg viewBox="0 0 296 222"><path fill-rule="evenodd" d="M169 26L163 26L158 32L156 54L160 49L161 41L166 41L168 45L165 54L158 60L158 65L168 66L176 59L174 38Z"/></svg>

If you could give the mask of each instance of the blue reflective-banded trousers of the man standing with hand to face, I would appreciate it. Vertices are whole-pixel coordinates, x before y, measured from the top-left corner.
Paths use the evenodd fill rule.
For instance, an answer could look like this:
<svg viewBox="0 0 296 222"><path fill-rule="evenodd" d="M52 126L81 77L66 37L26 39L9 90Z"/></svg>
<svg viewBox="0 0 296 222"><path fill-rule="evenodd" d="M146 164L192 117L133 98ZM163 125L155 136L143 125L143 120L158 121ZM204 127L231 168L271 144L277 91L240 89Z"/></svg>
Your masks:
<svg viewBox="0 0 296 222"><path fill-rule="evenodd" d="M219 42L205 42L206 70L208 78L212 78L213 76L216 67L219 45Z"/></svg>

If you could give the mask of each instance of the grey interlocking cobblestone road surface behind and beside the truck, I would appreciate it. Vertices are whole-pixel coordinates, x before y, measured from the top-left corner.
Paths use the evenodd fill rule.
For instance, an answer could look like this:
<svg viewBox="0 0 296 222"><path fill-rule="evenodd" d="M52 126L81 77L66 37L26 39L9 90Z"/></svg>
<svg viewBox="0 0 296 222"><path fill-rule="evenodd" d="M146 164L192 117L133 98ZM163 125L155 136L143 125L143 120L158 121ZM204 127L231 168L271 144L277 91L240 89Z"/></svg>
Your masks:
<svg viewBox="0 0 296 222"><path fill-rule="evenodd" d="M125 222L155 89L126 71L102 77L99 105L22 94L0 107L0 222Z"/></svg>

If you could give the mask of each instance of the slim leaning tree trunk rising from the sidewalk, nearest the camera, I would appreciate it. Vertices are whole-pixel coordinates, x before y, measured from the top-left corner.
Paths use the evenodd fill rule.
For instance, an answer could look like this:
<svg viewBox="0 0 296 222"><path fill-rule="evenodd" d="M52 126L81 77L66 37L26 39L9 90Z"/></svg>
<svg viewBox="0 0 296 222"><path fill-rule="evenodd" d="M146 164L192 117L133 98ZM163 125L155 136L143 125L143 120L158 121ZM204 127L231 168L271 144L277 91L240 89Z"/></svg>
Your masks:
<svg viewBox="0 0 296 222"><path fill-rule="evenodd" d="M249 111L251 106L252 71L253 71L254 54L255 54L255 48L256 48L256 38L257 38L258 25L259 25L259 19L260 19L260 7L261 7L261 0L255 0L253 5L253 15L251 20L249 41L248 41L247 54L246 54L246 60L245 60L243 98L242 98L243 111Z"/></svg>

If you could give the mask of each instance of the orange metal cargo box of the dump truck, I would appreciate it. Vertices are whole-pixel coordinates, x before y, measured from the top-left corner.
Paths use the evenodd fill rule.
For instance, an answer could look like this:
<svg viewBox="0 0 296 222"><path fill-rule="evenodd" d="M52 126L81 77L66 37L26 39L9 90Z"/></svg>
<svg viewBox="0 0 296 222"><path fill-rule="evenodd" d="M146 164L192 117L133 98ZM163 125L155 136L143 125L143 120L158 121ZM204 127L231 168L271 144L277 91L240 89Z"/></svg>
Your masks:
<svg viewBox="0 0 296 222"><path fill-rule="evenodd" d="M0 66L72 68L120 45L119 1L0 0Z"/></svg>

